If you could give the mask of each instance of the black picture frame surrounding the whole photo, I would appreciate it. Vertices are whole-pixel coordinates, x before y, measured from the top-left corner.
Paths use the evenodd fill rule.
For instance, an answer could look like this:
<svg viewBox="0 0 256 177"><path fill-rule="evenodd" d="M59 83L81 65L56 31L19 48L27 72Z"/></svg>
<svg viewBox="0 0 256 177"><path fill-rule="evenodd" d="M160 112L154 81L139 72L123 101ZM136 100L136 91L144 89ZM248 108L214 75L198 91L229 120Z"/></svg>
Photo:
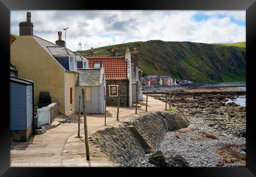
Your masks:
<svg viewBox="0 0 256 177"><path fill-rule="evenodd" d="M253 55L255 52L254 44L256 41L256 2L255 0L130 0L130 1L85 1L85 0L0 0L0 21L1 21L1 50L2 61L5 63L7 70L9 65L9 33L10 33L10 10L246 10L246 46L247 46L247 63L246 63L246 79L247 79L247 95L253 95L252 92L252 77L255 75L252 73L252 67L254 67ZM5 57L4 57L5 56ZM7 76L8 71L3 70L4 78ZM7 81L6 81L7 82ZM5 88L7 93L9 87ZM7 94L6 94L7 95ZM247 96L247 167L235 167L235 168L61 168L61 172L67 174L68 170L76 170L72 173L78 175L82 170L90 171L98 175L98 169L108 173L109 170L115 171L115 175L123 175L123 170L128 170L130 175L135 175L137 171L147 171L152 173L157 171L158 175L174 175L174 172L178 174L187 173L189 176L226 176L226 177L249 177L256 175L256 153L254 147L256 147L255 141L255 125L253 124L253 97ZM6 98L5 100L8 100ZM7 101L8 102L8 101ZM4 108L4 112L9 109ZM10 168L10 139L9 139L9 112L5 116L2 116L2 126L0 133L0 175L2 176L51 176L53 170L59 173L59 168ZM106 170L107 169L107 170ZM131 170L135 173L131 173ZM128 174L128 173L127 173ZM60 175L60 173L59 173ZM58 176L59 176L58 175ZM89 175L89 173L88 173Z"/></svg>

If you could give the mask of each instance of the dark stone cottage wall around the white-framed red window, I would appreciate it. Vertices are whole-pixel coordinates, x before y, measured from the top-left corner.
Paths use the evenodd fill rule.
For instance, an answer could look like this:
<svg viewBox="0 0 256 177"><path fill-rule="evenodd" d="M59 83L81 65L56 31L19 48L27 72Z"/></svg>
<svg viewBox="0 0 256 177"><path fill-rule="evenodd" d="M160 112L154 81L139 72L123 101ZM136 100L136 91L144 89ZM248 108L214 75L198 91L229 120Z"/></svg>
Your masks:
<svg viewBox="0 0 256 177"><path fill-rule="evenodd" d="M120 93L120 106L127 106L127 80L106 80L106 105L117 106L117 96L110 97L109 96L109 86L108 85L119 85L118 92Z"/></svg>

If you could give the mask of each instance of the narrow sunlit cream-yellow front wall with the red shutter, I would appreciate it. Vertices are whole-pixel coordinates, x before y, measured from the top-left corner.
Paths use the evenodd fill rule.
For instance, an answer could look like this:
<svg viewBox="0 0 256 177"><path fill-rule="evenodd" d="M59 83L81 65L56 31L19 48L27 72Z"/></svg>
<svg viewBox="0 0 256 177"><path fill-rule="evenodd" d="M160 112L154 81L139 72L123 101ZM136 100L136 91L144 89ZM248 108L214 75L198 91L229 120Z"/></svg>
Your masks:
<svg viewBox="0 0 256 177"><path fill-rule="evenodd" d="M72 72L65 72L65 113L67 115L73 114L76 111L76 94L75 94L76 74ZM72 87L72 104L70 104L70 87Z"/></svg>

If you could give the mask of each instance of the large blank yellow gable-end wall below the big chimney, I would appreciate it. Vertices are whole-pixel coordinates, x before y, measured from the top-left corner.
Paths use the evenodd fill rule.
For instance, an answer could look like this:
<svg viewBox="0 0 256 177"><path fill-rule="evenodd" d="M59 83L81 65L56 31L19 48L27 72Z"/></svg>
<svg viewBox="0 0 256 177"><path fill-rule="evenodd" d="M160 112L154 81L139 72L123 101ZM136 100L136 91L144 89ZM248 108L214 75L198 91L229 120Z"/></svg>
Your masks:
<svg viewBox="0 0 256 177"><path fill-rule="evenodd" d="M64 68L32 36L20 36L11 44L10 62L17 66L19 77L34 82L35 101L39 92L50 92L52 102L60 100L60 111L64 111Z"/></svg>

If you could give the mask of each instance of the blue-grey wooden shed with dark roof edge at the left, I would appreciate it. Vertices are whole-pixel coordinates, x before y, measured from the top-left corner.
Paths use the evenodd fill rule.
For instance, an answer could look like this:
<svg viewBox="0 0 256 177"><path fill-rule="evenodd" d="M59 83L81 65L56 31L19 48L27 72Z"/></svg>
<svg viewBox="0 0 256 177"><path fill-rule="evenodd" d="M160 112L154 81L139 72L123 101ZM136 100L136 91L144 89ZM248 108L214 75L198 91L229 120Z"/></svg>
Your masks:
<svg viewBox="0 0 256 177"><path fill-rule="evenodd" d="M33 82L10 76L10 131L13 140L28 141L33 132Z"/></svg>

